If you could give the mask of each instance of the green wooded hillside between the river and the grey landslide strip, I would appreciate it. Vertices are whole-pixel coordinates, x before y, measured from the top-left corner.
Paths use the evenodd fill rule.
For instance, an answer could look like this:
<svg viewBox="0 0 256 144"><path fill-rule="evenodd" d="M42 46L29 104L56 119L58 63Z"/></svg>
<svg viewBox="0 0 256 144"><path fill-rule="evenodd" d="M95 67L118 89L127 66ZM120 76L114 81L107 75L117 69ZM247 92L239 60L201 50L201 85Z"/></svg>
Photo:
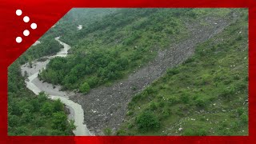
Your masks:
<svg viewBox="0 0 256 144"><path fill-rule="evenodd" d="M70 56L54 58L40 74L64 89L111 85L157 56L170 43L187 38L187 19L223 16L230 9L122 9L62 38L73 45ZM202 23L203 25L203 23ZM55 77L57 75L57 78Z"/></svg>

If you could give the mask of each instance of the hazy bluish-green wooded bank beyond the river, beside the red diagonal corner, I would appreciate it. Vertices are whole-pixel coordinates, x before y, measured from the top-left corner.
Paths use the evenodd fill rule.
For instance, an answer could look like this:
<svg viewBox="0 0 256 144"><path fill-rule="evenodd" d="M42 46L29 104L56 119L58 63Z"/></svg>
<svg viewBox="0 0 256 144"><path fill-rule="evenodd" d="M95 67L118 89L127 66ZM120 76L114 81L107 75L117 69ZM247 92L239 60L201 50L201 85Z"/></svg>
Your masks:
<svg viewBox="0 0 256 144"><path fill-rule="evenodd" d="M78 31L77 26L83 24L89 25L91 22L97 21L107 14L111 14L115 9L72 9L63 18L61 18L54 27L46 32L39 39L41 43L35 46L30 46L24 54L19 58L22 63L31 62L34 59L41 58L47 55L57 54L62 46L54 40L58 36L65 37L72 35Z"/></svg>

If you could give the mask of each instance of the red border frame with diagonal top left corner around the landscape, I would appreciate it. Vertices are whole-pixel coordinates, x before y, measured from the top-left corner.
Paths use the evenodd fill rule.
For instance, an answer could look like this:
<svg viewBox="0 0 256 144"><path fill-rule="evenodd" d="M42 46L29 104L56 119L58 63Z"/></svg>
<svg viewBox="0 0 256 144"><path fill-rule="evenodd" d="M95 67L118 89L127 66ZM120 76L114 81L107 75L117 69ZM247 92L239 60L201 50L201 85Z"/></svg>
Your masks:
<svg viewBox="0 0 256 144"><path fill-rule="evenodd" d="M229 143L255 143L256 142L256 0L1 0L0 2L0 143L138 143L138 142L229 142ZM50 29L58 19L62 18L73 7L209 7L209 8L248 8L249 9L249 136L136 136L136 137L20 137L7 136L7 67L14 62L30 45ZM23 14L30 17L29 23L22 22L22 17L15 14L21 9ZM22 14L22 15L23 15ZM16 43L15 38L28 29L31 22L38 24L38 29L31 30L30 36L23 38L22 43ZM4 49L4 50L3 50Z"/></svg>

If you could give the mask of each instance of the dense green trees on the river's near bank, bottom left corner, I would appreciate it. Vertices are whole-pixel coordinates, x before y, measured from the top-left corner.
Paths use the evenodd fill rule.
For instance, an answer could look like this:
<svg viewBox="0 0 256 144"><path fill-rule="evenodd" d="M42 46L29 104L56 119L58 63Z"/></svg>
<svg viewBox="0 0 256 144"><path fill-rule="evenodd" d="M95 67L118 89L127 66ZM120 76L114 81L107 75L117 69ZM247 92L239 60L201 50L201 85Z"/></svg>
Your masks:
<svg viewBox="0 0 256 144"><path fill-rule="evenodd" d="M64 105L27 90L17 60L8 68L8 134L73 135Z"/></svg>

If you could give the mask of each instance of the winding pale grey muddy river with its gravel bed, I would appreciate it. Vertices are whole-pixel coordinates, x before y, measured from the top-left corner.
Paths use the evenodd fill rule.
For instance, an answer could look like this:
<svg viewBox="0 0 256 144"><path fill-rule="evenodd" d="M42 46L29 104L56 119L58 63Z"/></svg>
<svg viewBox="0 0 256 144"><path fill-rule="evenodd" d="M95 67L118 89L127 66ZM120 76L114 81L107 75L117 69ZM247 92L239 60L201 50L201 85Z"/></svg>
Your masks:
<svg viewBox="0 0 256 144"><path fill-rule="evenodd" d="M61 42L58 38L55 38L64 48L59 51L56 55L48 58L44 62L34 61L32 62L32 68L30 68L29 64L26 63L21 67L22 74L25 71L28 74L28 79L26 81L26 87L34 92L34 94L39 94L41 91L44 91L46 94L49 94L49 98L52 99L60 99L69 109L70 109L70 119L74 119L74 125L77 126L76 130L74 130L75 135L91 135L90 131L87 129L86 125L83 124L84 122L84 112L82 110L82 106L76 102L73 102L69 99L69 96L73 95L74 93L68 91L60 91L61 86L52 86L52 84L47 82L42 82L38 79L38 73L40 70L46 68L48 62L50 62L50 58L54 57L66 57L70 46L64 42Z"/></svg>

